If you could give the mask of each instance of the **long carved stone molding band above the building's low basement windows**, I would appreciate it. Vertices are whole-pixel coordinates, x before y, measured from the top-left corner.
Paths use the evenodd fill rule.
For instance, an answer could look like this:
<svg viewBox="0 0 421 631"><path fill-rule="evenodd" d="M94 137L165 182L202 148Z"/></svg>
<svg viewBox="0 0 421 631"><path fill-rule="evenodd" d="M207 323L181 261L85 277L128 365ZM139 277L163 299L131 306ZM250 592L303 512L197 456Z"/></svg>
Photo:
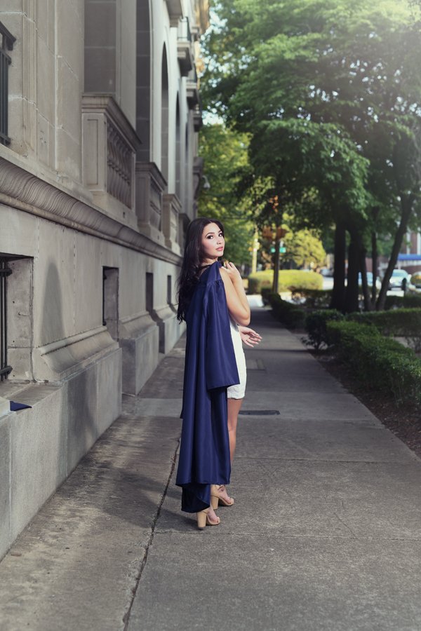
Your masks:
<svg viewBox="0 0 421 631"><path fill-rule="evenodd" d="M0 203L175 265L180 256L0 156Z"/></svg>

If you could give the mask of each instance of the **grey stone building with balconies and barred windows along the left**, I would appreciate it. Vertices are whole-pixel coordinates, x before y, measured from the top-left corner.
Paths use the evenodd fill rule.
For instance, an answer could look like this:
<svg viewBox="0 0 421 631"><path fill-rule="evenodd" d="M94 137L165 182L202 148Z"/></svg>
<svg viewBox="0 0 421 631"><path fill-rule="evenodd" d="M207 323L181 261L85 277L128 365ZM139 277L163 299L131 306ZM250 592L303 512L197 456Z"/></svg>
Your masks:
<svg viewBox="0 0 421 631"><path fill-rule="evenodd" d="M0 0L0 556L175 344L207 0ZM0 411L1 414L1 411Z"/></svg>

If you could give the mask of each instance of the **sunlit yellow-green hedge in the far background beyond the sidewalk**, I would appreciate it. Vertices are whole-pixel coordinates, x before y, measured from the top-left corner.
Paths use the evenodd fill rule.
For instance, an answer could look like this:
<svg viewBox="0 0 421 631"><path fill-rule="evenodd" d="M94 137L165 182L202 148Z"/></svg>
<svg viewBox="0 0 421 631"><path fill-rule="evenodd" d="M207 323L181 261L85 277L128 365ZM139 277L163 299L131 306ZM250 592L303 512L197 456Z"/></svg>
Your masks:
<svg viewBox="0 0 421 631"><path fill-rule="evenodd" d="M255 272L248 276L248 293L260 294L263 287L272 289L274 283L273 269ZM279 270L278 291L290 290L321 290L323 277L321 274L302 269Z"/></svg>

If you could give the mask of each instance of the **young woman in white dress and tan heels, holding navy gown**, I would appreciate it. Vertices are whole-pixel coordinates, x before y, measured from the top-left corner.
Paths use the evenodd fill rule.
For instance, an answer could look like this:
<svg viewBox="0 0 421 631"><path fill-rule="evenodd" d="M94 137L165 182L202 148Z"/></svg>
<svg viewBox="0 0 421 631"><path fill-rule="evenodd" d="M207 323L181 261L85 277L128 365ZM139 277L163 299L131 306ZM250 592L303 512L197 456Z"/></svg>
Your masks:
<svg viewBox="0 0 421 631"><path fill-rule="evenodd" d="M241 337L249 346L260 341L247 326L250 308L239 271L219 262L224 248L220 222L199 217L189 224L178 292L187 344L176 483L182 487L182 510L197 513L199 528L220 523L219 502L234 503L225 484L246 386Z"/></svg>

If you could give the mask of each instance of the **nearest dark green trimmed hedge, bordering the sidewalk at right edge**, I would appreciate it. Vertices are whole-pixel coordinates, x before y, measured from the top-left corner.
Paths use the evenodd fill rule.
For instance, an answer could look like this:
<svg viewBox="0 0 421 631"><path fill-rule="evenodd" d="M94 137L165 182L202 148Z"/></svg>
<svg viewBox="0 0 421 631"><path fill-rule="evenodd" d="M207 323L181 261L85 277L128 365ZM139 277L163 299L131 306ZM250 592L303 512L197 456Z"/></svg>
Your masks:
<svg viewBox="0 0 421 631"><path fill-rule="evenodd" d="M328 339L367 388L421 407L421 361L410 348L383 337L373 325L329 322Z"/></svg>

